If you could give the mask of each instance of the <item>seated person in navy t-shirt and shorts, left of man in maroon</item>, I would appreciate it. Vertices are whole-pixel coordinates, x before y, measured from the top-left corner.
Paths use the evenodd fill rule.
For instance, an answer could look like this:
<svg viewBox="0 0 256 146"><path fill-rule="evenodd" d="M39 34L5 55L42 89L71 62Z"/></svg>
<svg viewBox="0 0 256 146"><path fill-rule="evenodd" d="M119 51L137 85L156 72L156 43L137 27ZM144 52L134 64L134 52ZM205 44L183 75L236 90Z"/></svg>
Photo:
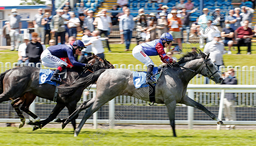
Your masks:
<svg viewBox="0 0 256 146"><path fill-rule="evenodd" d="M228 44L229 46L229 50L228 50L228 54L232 54L230 49L231 47L233 46L234 44L234 29L230 28L230 24L226 24L226 28L223 28L222 29L222 32L221 32L221 37L225 37L224 40L222 40L222 43L225 44Z"/></svg>

